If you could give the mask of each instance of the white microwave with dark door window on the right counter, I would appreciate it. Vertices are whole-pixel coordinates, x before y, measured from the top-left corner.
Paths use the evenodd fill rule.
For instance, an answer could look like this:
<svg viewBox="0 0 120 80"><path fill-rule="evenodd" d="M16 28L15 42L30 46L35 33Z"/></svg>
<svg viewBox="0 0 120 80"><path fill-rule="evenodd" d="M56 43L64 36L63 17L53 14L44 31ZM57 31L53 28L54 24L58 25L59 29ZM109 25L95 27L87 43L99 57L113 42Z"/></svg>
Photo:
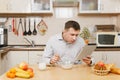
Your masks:
<svg viewBox="0 0 120 80"><path fill-rule="evenodd" d="M120 47L120 34L118 32L97 32L97 47Z"/></svg>

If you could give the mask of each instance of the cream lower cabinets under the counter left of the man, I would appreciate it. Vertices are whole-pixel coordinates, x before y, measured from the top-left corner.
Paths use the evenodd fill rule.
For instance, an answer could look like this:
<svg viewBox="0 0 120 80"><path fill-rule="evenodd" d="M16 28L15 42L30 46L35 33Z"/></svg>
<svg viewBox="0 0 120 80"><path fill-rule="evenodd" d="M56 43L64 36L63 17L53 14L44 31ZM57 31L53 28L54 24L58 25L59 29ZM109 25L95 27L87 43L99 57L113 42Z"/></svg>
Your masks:
<svg viewBox="0 0 120 80"><path fill-rule="evenodd" d="M16 66L20 62L27 62L29 65L38 64L43 51L9 51L5 57L6 70Z"/></svg>

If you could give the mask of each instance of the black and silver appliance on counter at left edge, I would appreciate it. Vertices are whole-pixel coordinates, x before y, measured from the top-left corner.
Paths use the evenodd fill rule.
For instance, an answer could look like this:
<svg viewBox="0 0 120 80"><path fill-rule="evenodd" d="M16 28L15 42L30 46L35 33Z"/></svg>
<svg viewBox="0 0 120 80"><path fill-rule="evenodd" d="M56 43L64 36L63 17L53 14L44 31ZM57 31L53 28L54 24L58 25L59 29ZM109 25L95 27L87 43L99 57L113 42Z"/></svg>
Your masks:
<svg viewBox="0 0 120 80"><path fill-rule="evenodd" d="M7 46L8 31L5 28L0 28L0 47Z"/></svg>

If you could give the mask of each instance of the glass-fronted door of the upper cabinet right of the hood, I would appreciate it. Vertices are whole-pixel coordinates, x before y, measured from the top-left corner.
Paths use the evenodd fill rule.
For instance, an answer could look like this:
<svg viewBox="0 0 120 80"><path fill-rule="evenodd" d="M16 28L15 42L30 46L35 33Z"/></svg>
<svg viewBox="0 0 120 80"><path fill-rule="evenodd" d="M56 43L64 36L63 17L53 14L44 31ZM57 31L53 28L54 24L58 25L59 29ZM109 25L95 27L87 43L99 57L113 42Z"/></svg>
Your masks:
<svg viewBox="0 0 120 80"><path fill-rule="evenodd" d="M99 0L80 0L79 13L98 13L100 11Z"/></svg>

